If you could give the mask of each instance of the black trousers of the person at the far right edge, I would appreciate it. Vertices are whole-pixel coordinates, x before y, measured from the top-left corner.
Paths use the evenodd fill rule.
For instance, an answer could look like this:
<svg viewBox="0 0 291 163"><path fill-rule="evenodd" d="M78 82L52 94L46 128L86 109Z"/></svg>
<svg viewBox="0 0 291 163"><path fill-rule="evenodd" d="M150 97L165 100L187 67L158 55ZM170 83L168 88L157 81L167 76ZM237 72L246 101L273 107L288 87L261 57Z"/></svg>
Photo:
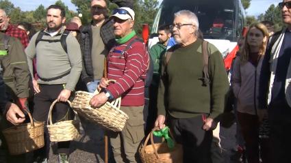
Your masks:
<svg viewBox="0 0 291 163"><path fill-rule="evenodd" d="M282 102L283 103L283 102ZM270 106L270 149L272 163L291 162L291 108L288 104Z"/></svg>

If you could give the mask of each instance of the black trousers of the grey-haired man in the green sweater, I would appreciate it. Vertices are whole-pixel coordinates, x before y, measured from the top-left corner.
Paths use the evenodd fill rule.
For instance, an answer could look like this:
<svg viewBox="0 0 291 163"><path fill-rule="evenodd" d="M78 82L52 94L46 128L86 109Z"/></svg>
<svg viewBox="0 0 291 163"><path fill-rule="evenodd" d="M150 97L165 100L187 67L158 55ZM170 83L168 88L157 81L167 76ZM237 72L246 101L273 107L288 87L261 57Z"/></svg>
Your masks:
<svg viewBox="0 0 291 163"><path fill-rule="evenodd" d="M203 120L199 115L193 118L168 119L177 143L183 145L184 163L211 163L212 131L202 129Z"/></svg>

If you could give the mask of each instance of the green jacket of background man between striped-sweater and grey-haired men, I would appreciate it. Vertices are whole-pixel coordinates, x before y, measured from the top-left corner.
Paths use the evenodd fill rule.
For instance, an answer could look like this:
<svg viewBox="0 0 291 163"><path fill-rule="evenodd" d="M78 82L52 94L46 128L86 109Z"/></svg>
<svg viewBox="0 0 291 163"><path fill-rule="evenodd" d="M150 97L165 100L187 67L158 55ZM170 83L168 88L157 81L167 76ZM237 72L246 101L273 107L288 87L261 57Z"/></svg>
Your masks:
<svg viewBox="0 0 291 163"><path fill-rule="evenodd" d="M166 46L160 42L153 45L149 50L149 54L151 55L151 59L153 59L153 81L152 85L159 85L160 82L160 74L162 68L162 58L166 53Z"/></svg>

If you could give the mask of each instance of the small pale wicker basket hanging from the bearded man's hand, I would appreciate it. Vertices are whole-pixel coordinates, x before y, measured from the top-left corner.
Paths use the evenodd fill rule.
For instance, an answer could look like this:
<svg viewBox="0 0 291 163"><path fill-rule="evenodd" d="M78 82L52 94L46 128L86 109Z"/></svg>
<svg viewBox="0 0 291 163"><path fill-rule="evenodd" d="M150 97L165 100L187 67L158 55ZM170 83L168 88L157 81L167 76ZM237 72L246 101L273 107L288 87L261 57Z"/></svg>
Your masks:
<svg viewBox="0 0 291 163"><path fill-rule="evenodd" d="M51 107L49 108L49 117L47 118L47 130L49 130L49 140L52 142L61 142L73 140L79 136L79 121L77 120L68 120L68 121L60 121L53 124L51 118L51 112L53 110L53 106L58 102L55 100ZM71 106L71 102L67 101ZM75 113L75 111L74 111ZM77 113L75 113L77 116Z"/></svg>

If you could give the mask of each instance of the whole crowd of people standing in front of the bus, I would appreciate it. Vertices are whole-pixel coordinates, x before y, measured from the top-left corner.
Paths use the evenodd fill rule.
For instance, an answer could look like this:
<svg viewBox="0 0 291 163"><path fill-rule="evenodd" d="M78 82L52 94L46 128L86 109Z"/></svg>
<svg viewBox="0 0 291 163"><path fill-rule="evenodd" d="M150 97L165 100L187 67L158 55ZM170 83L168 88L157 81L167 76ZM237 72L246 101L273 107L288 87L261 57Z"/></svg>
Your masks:
<svg viewBox="0 0 291 163"><path fill-rule="evenodd" d="M291 162L291 0L279 3L286 24L281 31L274 32L269 21L242 31L229 72L218 48L203 40L193 12L176 12L148 49L134 31L133 1L111 2L118 8L108 14L107 1L90 1L89 25L77 16L66 20L64 8L50 5L47 27L38 32L30 23L12 25L0 9L1 130L25 123L27 113L47 121L54 100L53 121L73 119L66 102L75 91L100 88L90 105L98 109L121 97L121 110L129 116L125 128L113 132L80 119L85 133L94 126L97 139L109 137L112 162L140 162L144 135L167 125L183 147L181 162L218 163L224 162L219 121L231 92L247 162ZM2 133L0 138L1 149L7 149ZM70 143L57 143L59 162L68 162ZM45 147L31 158L0 152L6 152L4 162L48 162L49 148L45 127Z"/></svg>

